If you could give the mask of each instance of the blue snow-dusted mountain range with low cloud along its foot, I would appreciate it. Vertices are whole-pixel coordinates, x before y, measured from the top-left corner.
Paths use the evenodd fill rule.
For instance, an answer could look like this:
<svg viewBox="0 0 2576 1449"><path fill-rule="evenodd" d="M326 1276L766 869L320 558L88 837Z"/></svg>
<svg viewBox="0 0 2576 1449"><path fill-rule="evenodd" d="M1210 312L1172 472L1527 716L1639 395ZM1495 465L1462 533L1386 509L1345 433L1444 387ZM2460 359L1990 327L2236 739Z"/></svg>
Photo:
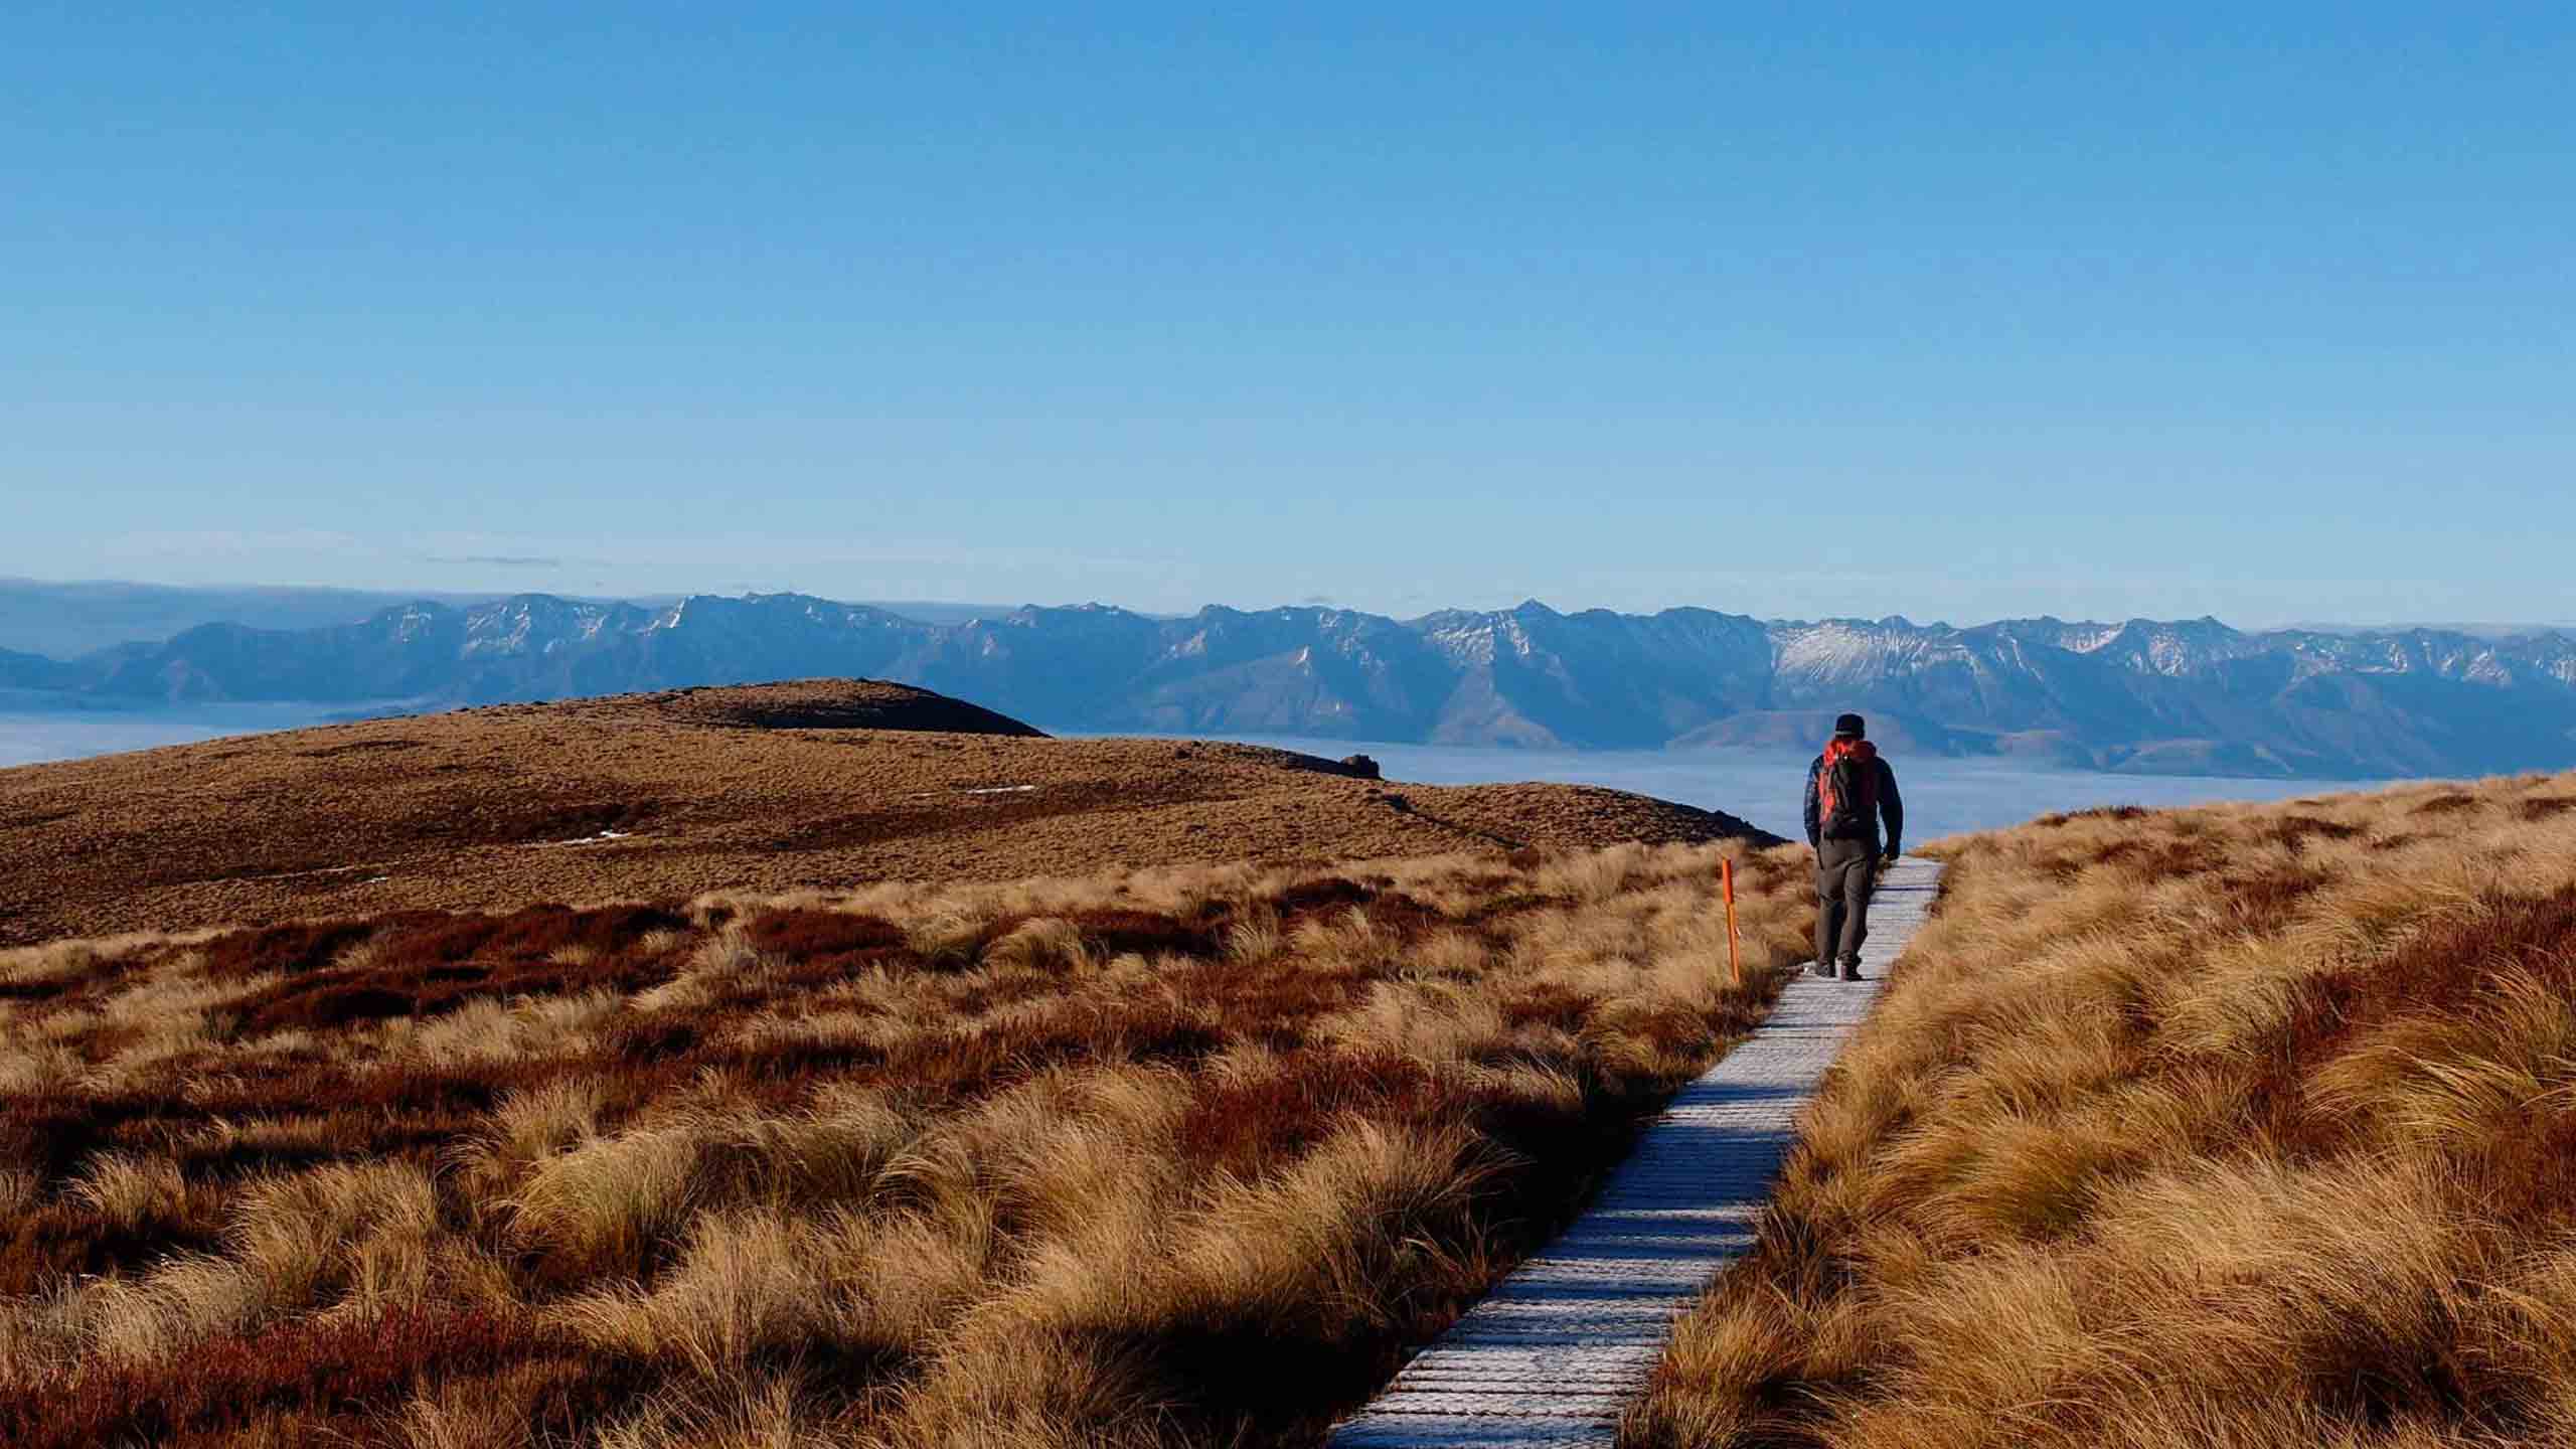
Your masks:
<svg viewBox="0 0 2576 1449"><path fill-rule="evenodd" d="M1473 745L1811 745L1839 709L1891 748L2151 773L2409 776L2576 766L2576 639L2442 629L2236 632L2215 619L1973 629L1543 603L1018 608L930 624L796 593L667 606L515 596L330 629L206 624L75 663L0 652L0 686L118 699L497 704L868 676L1054 730Z"/></svg>

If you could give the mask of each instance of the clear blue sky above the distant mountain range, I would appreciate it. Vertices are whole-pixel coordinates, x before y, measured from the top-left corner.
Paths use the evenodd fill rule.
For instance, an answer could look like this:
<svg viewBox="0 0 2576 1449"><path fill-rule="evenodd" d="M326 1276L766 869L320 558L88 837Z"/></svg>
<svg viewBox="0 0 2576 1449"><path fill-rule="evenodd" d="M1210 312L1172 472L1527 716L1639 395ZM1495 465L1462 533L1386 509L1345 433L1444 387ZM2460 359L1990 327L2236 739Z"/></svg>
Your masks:
<svg viewBox="0 0 2576 1449"><path fill-rule="evenodd" d="M2566 5L471 10L10 5L0 572L2576 616Z"/></svg>

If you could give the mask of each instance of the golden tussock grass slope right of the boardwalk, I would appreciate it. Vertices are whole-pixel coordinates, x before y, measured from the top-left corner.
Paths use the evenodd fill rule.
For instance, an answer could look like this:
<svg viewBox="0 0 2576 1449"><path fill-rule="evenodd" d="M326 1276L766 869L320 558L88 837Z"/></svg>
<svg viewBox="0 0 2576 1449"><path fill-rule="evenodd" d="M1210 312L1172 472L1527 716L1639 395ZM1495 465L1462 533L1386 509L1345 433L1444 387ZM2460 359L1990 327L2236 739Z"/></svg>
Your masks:
<svg viewBox="0 0 2576 1449"><path fill-rule="evenodd" d="M2576 779L1947 853L1628 1446L2576 1441Z"/></svg>

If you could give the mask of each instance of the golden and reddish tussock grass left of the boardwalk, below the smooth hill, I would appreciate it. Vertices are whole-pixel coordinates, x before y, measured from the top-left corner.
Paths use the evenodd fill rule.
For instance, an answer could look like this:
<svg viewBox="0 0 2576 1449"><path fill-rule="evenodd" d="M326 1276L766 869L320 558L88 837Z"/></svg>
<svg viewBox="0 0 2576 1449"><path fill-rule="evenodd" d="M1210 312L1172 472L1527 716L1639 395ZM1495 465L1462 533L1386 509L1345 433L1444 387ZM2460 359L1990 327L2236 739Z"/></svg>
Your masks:
<svg viewBox="0 0 2576 1449"><path fill-rule="evenodd" d="M1808 920L1620 846L5 951L0 1444L1314 1441Z"/></svg>

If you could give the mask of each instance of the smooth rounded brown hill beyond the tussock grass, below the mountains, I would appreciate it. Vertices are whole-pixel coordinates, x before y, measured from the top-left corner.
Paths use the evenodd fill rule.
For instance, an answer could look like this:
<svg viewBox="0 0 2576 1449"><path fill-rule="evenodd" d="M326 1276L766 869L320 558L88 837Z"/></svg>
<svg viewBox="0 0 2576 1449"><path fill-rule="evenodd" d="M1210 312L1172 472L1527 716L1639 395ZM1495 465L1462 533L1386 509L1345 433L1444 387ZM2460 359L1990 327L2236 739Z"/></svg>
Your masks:
<svg viewBox="0 0 2576 1449"><path fill-rule="evenodd" d="M0 944L860 879L1770 841L1561 784L1054 740L878 681L505 704L0 771Z"/></svg>

